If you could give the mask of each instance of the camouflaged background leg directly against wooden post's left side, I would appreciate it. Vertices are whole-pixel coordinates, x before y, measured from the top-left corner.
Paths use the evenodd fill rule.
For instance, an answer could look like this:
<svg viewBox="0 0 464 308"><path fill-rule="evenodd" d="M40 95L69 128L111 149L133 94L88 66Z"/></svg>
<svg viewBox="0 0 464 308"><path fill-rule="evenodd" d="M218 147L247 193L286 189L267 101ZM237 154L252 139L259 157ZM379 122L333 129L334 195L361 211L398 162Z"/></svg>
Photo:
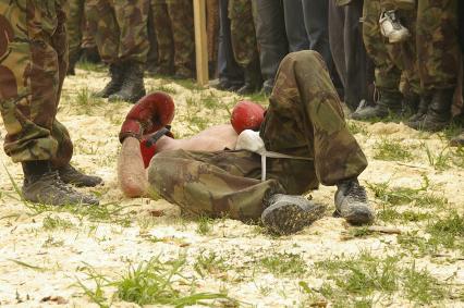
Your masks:
<svg viewBox="0 0 464 308"><path fill-rule="evenodd" d="M195 73L195 34L192 1L167 0L174 40L174 70L178 78Z"/></svg>

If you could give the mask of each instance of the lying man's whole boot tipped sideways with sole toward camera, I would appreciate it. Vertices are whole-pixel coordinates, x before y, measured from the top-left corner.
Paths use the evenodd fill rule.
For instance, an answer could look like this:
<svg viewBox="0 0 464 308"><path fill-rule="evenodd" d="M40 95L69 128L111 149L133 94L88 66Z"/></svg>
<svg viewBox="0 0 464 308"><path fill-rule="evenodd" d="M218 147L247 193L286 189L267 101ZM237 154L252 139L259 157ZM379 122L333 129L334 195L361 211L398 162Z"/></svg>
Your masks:
<svg viewBox="0 0 464 308"><path fill-rule="evenodd" d="M303 196L276 194L265 200L262 224L279 235L292 234L320 219L326 207Z"/></svg>

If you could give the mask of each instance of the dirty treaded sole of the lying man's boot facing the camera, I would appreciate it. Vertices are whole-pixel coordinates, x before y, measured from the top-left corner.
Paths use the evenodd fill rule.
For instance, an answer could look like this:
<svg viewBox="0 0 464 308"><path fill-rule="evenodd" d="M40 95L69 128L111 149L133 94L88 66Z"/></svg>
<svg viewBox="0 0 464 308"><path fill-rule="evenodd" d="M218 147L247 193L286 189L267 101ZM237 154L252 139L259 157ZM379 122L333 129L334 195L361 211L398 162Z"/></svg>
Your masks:
<svg viewBox="0 0 464 308"><path fill-rule="evenodd" d="M271 232L286 235L312 224L322 217L325 210L320 205L278 202L264 210L261 220Z"/></svg>

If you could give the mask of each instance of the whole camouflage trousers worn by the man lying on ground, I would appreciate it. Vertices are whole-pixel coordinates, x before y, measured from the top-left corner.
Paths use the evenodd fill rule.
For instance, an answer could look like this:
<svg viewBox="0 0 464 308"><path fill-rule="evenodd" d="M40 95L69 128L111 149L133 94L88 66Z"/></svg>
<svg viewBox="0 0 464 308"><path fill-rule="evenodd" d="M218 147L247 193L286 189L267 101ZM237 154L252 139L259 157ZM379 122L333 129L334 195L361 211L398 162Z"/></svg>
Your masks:
<svg viewBox="0 0 464 308"><path fill-rule="evenodd" d="M247 221L260 217L272 194L335 185L367 165L315 51L290 53L281 62L260 136L268 150L310 160L268 159L261 182L260 157L253 152L164 151L151 160L150 187L183 210Z"/></svg>

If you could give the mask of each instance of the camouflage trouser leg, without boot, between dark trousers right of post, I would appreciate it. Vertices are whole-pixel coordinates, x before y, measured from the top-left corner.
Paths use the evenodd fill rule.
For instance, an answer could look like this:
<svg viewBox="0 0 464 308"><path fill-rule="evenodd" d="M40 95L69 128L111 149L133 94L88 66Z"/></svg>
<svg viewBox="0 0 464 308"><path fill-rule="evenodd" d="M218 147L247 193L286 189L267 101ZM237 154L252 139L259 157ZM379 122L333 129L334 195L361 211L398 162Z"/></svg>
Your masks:
<svg viewBox="0 0 464 308"><path fill-rule="evenodd" d="M229 0L229 19L235 61L246 67L259 57L252 0Z"/></svg>

